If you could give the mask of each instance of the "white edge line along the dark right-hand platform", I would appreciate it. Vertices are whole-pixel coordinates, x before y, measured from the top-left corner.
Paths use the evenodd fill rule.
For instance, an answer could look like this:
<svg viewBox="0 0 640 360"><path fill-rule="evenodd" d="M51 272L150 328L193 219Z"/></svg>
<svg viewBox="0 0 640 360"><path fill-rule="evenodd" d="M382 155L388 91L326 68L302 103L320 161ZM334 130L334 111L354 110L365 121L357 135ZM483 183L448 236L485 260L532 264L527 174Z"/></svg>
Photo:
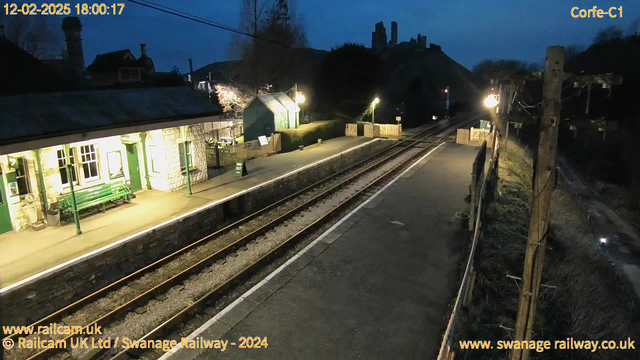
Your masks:
<svg viewBox="0 0 640 360"><path fill-rule="evenodd" d="M338 226L340 226L342 223L344 223L346 220L348 220L353 214L355 214L356 212L358 212L363 206L367 205L369 202L371 202L373 199L375 199L378 195L380 195L383 191L385 191L389 186L391 186L391 184L395 183L398 179L400 179L401 177L403 177L407 172L409 172L414 166L418 165L419 163L422 162L422 160L424 160L427 156L431 155L432 152L436 151L437 149L439 149L440 147L442 147L443 145L445 145L446 143L441 143L440 145L436 146L435 148L431 149L428 153L426 153L425 155L423 155L418 161L416 161L415 163L411 164L411 166L409 166L407 169L405 169L402 173L400 173L399 175L397 175L395 178L393 178L393 180L391 180L387 185L385 185L382 189L378 190L375 194L373 194L370 198L368 198L365 202L363 202L362 204L358 205L358 207L356 207L355 209L353 209L351 212L349 212L345 217L343 217L342 219L340 219L340 221L338 221L337 223L335 223L332 227L330 227L327 231L325 231L324 233L322 233L322 235L318 236L317 239L313 240L309 245L305 246L302 250L300 250L297 254L295 254L291 259L287 260L287 262L285 262L284 264L280 265L280 267L278 267L276 270L274 270L271 274L269 274L269 276L267 276L266 278L264 278L262 281L260 281L259 283L255 284L251 289L247 290L244 294L242 294L239 298L237 298L234 302L232 302L231 304L227 305L227 307L225 307L224 309L222 309L222 311L220 311L219 313L217 313L214 317L212 317L211 319L209 319L207 322L205 322L204 324L202 324L199 328L197 328L194 332L192 332L191 334L189 334L187 336L187 338L189 340L194 340L196 337L198 337L200 334L202 334L205 330L207 330L209 327L211 327L211 325L213 325L216 321L219 321L220 318L222 318L225 314L227 314L228 312L230 312L231 310L233 310L233 308L235 308L236 306L238 306L241 302L243 302L249 295L251 295L252 293L254 293L256 290L260 289L264 284L266 284L267 282L269 282L269 280L273 279L274 276L276 276L277 274L279 274L282 270L284 270L287 266L289 266L292 262L296 261L298 258L300 258L302 255L304 255L307 251L309 251L309 249L311 249L316 243L318 243L319 241L322 241L322 239L324 239L325 237L327 237L331 232L333 232ZM175 347L173 347L171 350L167 351L164 355L162 355L160 357L159 360L167 360L169 359L171 356L173 356L176 352L178 352L182 347L180 345L176 345Z"/></svg>

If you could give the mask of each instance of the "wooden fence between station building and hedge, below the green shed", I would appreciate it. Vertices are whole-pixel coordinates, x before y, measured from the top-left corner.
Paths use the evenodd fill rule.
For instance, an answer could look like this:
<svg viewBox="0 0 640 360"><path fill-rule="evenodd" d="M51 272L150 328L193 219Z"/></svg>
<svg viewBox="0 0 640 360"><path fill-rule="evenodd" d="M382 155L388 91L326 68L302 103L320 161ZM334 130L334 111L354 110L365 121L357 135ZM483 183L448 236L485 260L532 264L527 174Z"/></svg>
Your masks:
<svg viewBox="0 0 640 360"><path fill-rule="evenodd" d="M236 160L249 160L257 157L275 154L282 151L280 134L273 134L267 138L267 145L260 145L259 140L247 141L234 146L207 147L207 167L221 168L234 165Z"/></svg>

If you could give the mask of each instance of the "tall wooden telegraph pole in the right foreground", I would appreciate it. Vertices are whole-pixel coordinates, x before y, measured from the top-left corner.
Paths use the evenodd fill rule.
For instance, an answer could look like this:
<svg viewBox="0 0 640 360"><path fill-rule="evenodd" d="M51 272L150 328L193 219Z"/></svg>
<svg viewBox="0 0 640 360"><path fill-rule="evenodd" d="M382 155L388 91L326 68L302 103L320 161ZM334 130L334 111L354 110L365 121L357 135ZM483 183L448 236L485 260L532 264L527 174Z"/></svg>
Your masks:
<svg viewBox="0 0 640 360"><path fill-rule="evenodd" d="M540 120L540 140L534 166L533 201L529 240L522 274L522 289L516 320L516 341L531 340L538 294L544 265L544 250L549 227L549 205L555 178L555 163L558 146L558 128L562 81L564 80L564 48L550 46L542 88L542 118ZM528 350L513 350L511 360L527 360Z"/></svg>

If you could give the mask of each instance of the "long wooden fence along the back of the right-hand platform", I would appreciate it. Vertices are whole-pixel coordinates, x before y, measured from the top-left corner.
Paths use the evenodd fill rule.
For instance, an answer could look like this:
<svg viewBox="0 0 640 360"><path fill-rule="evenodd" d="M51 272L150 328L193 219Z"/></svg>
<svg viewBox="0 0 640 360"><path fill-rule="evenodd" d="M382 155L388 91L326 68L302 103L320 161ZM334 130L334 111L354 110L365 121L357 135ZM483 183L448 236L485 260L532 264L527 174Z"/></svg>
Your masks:
<svg viewBox="0 0 640 360"><path fill-rule="evenodd" d="M473 286L475 283L475 254L478 247L478 242L482 238L482 214L484 209L485 196L490 188L493 188L495 185L495 180L498 176L498 165L500 160L500 149L499 149L499 134L497 131L494 135L493 141L493 151L491 153L491 162L489 163L489 169L486 173L484 173L485 168L485 159L487 155L487 142L484 141L482 143L482 148L478 152L478 156L473 163L473 172L471 176L471 211L474 211L474 216L470 216L470 230L473 231L473 239L471 241L471 251L469 252L469 259L467 260L467 265L464 270L464 275L462 277L462 282L460 284L460 288L458 289L458 296L456 297L456 301L453 305L453 310L451 311L451 316L449 317L449 322L447 324L447 329L442 338L442 343L440 345L440 352L438 353L438 360L452 360L455 357L455 353L452 349L453 347L453 334L458 332L457 327L460 325L460 313L462 311L462 307L469 306L471 302L471 297L473 293ZM480 173L480 168L482 168L482 174ZM474 194L473 189L479 189ZM471 221L473 220L473 221ZM471 225L473 224L473 225Z"/></svg>

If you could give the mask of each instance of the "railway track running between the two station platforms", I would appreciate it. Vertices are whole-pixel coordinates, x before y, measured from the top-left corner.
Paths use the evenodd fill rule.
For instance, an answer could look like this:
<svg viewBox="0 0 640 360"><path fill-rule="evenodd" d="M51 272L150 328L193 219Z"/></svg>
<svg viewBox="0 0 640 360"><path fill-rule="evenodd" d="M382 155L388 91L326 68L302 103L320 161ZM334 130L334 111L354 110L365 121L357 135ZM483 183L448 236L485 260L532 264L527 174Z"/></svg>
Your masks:
<svg viewBox="0 0 640 360"><path fill-rule="evenodd" d="M161 316L162 321L158 322L156 319L154 320L155 324L141 323L140 329L137 329L137 332L134 331L134 333L143 334L142 336L136 335L140 340L160 337L176 324L196 313L205 304L219 298L225 290L255 273L282 250L297 243L341 209L370 193L376 187L383 186L385 179L391 174L400 171L403 167L410 166L422 153L435 146L434 142L429 142L428 139L438 134L448 133L472 119L474 119L473 115L454 118L446 124L445 129L433 126L409 138L399 140L393 146L372 155L353 167L324 178L225 226L213 234L56 311L35 322L32 326L64 322L65 325L82 324L81 326L85 329L93 326L112 327L113 335L118 336L117 334L123 330L123 326L127 327L128 318L142 315L147 311L153 312L154 305L151 303L157 304L168 302L167 300L173 298L184 298L183 295L188 293L188 291L184 291L185 286L189 285L191 280L195 282L198 277L202 277L199 274L223 273L224 276L221 276L218 282L204 281L206 285L212 285L212 290L203 291L200 288L200 291L191 294L191 298L187 294L184 302L188 303L188 306L176 304L168 314ZM434 130L434 127L437 129ZM336 196L338 192L341 195ZM310 220L300 220L304 218L306 213L314 211L316 214L308 217ZM319 213L322 215L318 216ZM274 234L278 235L278 233L283 240L269 240L269 237L273 238ZM251 258L251 260L248 262L237 260L243 257ZM147 279L153 278L152 275L159 276L155 276L155 281ZM158 278L161 280L158 281ZM178 296L175 293L180 294ZM180 310L177 310L178 308ZM149 332L149 329L153 330ZM60 339L68 343L77 336L69 335ZM103 337L107 336L109 336L108 333L103 334ZM41 359L61 352L65 353L64 349L44 349L35 354L23 354L24 357L14 357L12 355L18 354L13 353L5 353L5 355L8 355L8 359ZM76 355L78 354L74 354L74 357ZM107 350L98 350L80 355L83 359L89 359L105 358L112 354ZM115 354L113 359L122 359L127 356L126 351L122 351ZM61 356L61 358L64 357Z"/></svg>

